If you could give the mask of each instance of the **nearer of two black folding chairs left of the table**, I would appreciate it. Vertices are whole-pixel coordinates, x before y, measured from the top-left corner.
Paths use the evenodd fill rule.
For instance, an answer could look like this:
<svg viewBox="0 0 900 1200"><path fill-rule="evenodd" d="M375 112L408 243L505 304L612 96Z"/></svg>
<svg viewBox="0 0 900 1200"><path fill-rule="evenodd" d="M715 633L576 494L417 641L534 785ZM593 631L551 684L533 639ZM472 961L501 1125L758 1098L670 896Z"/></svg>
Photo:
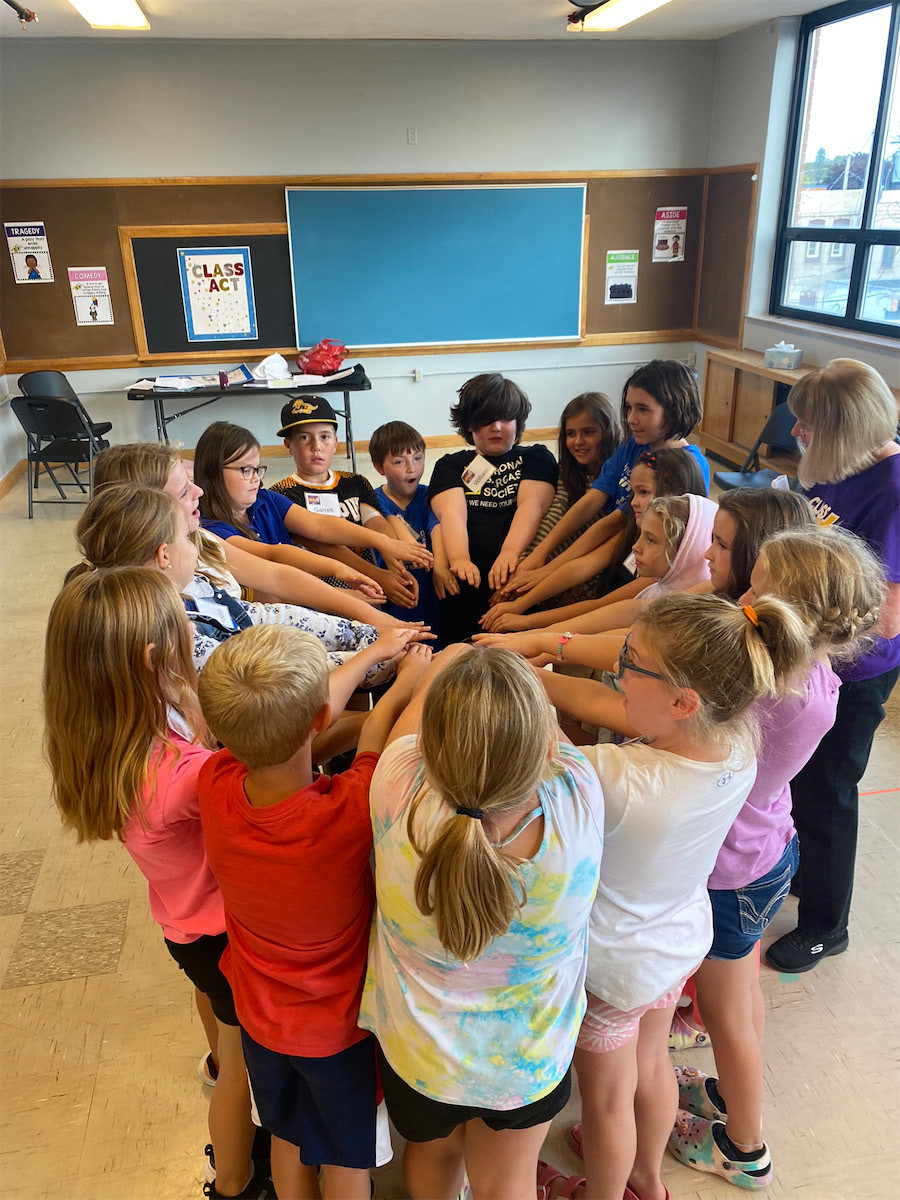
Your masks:
<svg viewBox="0 0 900 1200"><path fill-rule="evenodd" d="M106 448L102 438L94 434L80 408L68 400L56 396L14 396L10 402L28 439L28 515L34 516L35 504L80 503L86 504L94 494L94 460ZM78 466L88 464L88 480L78 475ZM47 472L61 500L36 500L40 469ZM66 467L72 482L56 478L56 470ZM64 488L78 487L83 499L70 502Z"/></svg>

